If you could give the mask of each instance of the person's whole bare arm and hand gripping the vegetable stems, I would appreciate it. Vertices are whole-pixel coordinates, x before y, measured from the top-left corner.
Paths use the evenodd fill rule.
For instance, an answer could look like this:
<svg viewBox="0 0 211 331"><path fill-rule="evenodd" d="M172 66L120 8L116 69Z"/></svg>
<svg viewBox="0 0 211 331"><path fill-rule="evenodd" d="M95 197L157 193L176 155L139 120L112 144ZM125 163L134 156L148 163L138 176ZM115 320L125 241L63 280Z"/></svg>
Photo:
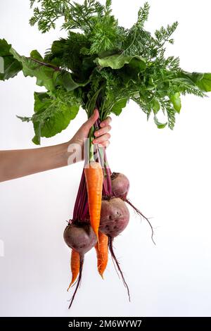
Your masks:
<svg viewBox="0 0 211 331"><path fill-rule="evenodd" d="M0 182L13 180L18 177L40 173L46 170L60 168L75 162L71 157L74 151L70 146L78 146L81 151L84 145L84 139L89 135L89 130L98 118L98 111L79 128L69 142L55 146L41 147L37 149L18 149L10 151L0 151ZM108 146L110 138L110 118L101 123L101 129L95 132L96 139L94 144ZM76 161L81 161L77 158Z"/></svg>

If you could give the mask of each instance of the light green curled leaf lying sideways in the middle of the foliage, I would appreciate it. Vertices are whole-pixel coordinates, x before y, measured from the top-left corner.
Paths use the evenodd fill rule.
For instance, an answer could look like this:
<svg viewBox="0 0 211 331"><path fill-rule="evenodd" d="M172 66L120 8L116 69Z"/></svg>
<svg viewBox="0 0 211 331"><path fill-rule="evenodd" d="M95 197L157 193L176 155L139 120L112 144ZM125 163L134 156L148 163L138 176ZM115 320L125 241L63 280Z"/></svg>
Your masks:
<svg viewBox="0 0 211 331"><path fill-rule="evenodd" d="M105 58L96 58L94 62L101 68L110 67L112 69L120 69L125 64L129 64L132 60L134 61L133 65L136 66L136 68L146 68L146 61L144 58L141 58L141 56L121 56L115 54L112 56L106 56Z"/></svg>

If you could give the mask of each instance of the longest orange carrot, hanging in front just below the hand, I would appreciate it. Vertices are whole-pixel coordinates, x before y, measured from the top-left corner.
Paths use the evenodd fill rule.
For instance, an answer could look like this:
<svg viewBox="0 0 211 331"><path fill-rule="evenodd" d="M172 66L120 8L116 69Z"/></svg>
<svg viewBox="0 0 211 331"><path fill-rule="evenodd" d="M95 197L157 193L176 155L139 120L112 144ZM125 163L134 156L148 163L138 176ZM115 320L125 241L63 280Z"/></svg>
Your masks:
<svg viewBox="0 0 211 331"><path fill-rule="evenodd" d="M98 228L101 220L103 170L100 163L91 161L85 167L84 173L87 182L90 223L98 238Z"/></svg>

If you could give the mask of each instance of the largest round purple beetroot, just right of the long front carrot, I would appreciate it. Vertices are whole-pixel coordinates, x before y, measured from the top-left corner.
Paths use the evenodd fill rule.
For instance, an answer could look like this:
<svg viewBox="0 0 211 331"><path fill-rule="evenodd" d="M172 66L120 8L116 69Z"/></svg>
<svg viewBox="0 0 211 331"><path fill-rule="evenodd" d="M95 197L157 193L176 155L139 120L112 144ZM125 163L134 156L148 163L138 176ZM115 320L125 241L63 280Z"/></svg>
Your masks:
<svg viewBox="0 0 211 331"><path fill-rule="evenodd" d="M122 199L103 200L99 230L108 237L117 237L129 223L129 211Z"/></svg>

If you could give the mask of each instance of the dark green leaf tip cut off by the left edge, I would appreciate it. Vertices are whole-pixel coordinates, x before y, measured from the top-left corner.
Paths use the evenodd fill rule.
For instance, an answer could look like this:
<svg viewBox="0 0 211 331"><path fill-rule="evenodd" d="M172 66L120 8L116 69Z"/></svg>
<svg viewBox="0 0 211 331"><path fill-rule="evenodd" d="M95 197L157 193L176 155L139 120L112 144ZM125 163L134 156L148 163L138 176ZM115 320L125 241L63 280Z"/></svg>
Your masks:
<svg viewBox="0 0 211 331"><path fill-rule="evenodd" d="M10 53L11 45L0 39L0 80L15 77L22 70L22 64Z"/></svg>

